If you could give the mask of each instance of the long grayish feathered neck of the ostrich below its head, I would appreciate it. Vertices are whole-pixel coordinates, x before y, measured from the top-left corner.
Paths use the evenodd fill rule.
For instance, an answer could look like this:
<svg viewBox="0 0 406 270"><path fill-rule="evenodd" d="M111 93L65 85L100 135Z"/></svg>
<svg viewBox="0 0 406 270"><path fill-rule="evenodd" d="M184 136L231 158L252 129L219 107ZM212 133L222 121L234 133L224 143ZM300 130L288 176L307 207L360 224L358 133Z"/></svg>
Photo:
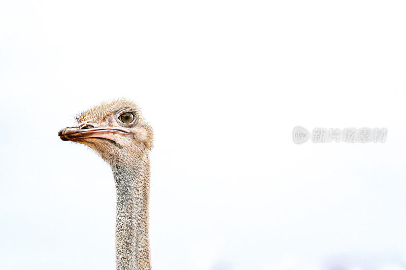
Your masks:
<svg viewBox="0 0 406 270"><path fill-rule="evenodd" d="M149 159L134 158L121 164L112 166L117 189L117 269L150 270Z"/></svg>

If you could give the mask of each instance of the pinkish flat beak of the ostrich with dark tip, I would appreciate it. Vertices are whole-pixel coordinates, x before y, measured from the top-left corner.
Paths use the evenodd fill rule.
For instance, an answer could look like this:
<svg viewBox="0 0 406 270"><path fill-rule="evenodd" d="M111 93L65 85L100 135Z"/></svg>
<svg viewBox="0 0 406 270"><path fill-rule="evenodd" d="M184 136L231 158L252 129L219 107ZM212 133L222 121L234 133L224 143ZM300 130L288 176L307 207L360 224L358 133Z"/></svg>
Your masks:
<svg viewBox="0 0 406 270"><path fill-rule="evenodd" d="M97 127L92 123L84 122L74 127L65 127L59 130L58 136L62 141L79 142L81 139L98 138L115 142L115 136L125 135L130 131L123 127Z"/></svg>

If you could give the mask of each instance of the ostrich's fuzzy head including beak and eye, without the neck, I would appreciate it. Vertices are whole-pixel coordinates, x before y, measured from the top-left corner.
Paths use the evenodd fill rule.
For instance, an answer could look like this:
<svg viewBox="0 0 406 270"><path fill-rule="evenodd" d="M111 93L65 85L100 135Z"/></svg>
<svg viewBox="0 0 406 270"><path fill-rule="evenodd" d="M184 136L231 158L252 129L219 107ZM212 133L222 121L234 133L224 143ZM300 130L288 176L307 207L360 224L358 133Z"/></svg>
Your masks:
<svg viewBox="0 0 406 270"><path fill-rule="evenodd" d="M112 166L142 157L152 147L151 126L139 107L124 98L82 111L75 118L77 125L58 132L60 139L89 146Z"/></svg>

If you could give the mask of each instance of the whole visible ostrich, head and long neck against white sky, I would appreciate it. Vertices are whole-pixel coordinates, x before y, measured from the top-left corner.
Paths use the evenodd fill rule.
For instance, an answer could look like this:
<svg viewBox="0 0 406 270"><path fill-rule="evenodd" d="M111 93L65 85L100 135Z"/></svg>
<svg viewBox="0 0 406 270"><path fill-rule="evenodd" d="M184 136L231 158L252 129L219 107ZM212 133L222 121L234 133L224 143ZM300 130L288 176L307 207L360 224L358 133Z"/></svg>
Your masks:
<svg viewBox="0 0 406 270"><path fill-rule="evenodd" d="M83 111L76 120L77 125L58 132L60 139L89 146L113 171L117 191L117 269L151 269L148 234L151 126L139 107L124 98Z"/></svg>

